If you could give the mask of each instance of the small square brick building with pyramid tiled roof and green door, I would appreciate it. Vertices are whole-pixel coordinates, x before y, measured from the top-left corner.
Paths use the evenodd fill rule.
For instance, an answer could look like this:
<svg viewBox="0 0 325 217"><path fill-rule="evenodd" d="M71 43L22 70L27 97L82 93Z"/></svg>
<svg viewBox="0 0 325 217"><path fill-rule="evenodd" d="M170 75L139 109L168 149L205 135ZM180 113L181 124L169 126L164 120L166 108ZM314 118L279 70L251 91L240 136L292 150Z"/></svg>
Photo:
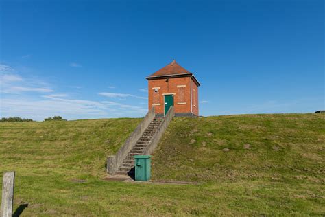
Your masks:
<svg viewBox="0 0 325 217"><path fill-rule="evenodd" d="M200 83L193 73L173 60L146 78L148 80L149 110L155 107L156 114L163 116L174 106L176 116L199 115Z"/></svg>

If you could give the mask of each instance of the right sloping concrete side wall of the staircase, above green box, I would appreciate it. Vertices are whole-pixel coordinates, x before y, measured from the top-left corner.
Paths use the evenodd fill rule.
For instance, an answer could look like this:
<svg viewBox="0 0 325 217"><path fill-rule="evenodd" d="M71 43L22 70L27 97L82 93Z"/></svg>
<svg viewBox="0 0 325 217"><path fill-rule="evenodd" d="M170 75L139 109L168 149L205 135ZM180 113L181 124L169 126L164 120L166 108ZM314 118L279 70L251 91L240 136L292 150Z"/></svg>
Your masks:
<svg viewBox="0 0 325 217"><path fill-rule="evenodd" d="M149 141L147 149L145 150L145 155L152 155L155 148L158 146L160 137L163 136L163 134L165 133L165 130L167 129L167 126L169 125L169 123L171 122L171 119L173 119L174 116L175 116L175 108L174 108L174 106L170 106L163 121L159 124L158 128L156 129L156 132L152 136L152 139Z"/></svg>

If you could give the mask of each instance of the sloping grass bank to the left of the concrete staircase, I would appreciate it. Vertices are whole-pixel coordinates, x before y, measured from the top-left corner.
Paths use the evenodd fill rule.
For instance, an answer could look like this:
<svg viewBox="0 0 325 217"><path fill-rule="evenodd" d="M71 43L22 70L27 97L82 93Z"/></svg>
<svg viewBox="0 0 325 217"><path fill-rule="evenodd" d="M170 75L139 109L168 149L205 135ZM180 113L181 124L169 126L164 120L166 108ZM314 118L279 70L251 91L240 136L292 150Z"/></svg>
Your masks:
<svg viewBox="0 0 325 217"><path fill-rule="evenodd" d="M0 160L5 170L97 175L141 119L0 123ZM104 160L104 161L103 161Z"/></svg>

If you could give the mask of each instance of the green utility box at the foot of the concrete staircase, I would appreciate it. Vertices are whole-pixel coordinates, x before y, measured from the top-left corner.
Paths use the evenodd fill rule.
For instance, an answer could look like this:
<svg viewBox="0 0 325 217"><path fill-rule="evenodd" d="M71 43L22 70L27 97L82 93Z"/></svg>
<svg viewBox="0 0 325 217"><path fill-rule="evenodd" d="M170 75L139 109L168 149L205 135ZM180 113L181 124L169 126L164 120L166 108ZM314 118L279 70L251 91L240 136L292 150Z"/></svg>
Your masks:
<svg viewBox="0 0 325 217"><path fill-rule="evenodd" d="M135 155L136 181L149 181L151 174L151 155Z"/></svg>

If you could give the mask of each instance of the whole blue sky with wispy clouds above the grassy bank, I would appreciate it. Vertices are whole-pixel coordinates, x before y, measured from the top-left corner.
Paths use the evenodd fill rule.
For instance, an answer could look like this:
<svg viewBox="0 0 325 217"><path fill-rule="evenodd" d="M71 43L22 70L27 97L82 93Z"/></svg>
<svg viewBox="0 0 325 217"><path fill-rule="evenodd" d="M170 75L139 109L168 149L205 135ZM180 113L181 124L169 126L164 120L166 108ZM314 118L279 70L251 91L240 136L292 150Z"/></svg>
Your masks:
<svg viewBox="0 0 325 217"><path fill-rule="evenodd" d="M200 115L325 107L323 1L0 0L0 19L1 117L142 117L173 58Z"/></svg>

